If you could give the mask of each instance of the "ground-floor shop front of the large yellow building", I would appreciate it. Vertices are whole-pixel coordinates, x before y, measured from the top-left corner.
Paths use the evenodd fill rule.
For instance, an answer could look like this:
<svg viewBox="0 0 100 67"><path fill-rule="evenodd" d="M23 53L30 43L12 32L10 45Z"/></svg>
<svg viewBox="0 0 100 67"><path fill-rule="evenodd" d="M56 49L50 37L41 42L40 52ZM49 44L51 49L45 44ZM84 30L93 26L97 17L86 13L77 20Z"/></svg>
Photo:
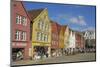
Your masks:
<svg viewBox="0 0 100 67"><path fill-rule="evenodd" d="M50 46L47 45L33 45L32 46L33 60L50 57Z"/></svg>

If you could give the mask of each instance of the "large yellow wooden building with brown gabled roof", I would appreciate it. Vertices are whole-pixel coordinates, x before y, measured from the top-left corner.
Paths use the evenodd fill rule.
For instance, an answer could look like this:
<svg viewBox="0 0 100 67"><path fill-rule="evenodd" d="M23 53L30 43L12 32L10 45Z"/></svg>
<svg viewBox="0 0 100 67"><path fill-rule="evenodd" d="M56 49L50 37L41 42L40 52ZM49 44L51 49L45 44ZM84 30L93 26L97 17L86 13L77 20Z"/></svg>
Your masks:
<svg viewBox="0 0 100 67"><path fill-rule="evenodd" d="M35 54L50 57L51 53L51 23L48 10L36 9L28 11L31 18L32 55Z"/></svg>

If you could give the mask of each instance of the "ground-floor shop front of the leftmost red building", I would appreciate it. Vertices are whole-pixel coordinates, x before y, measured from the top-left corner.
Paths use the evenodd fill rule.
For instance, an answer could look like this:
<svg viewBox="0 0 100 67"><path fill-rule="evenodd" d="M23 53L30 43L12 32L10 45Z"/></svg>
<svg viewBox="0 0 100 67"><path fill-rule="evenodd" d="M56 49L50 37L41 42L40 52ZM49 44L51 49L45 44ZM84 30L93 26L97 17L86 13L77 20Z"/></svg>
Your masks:
<svg viewBox="0 0 100 67"><path fill-rule="evenodd" d="M13 61L18 61L18 60L23 60L28 57L28 47L27 43L18 43L18 42L13 42L12 43L12 60Z"/></svg>

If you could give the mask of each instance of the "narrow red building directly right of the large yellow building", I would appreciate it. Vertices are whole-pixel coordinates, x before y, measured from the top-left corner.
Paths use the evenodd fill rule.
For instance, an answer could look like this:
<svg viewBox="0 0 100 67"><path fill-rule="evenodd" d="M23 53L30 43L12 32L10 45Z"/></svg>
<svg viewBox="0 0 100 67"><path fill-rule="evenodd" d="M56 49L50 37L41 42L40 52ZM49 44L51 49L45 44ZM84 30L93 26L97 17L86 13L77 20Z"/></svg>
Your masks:
<svg viewBox="0 0 100 67"><path fill-rule="evenodd" d="M59 34L57 23L51 21L51 56L58 56Z"/></svg>

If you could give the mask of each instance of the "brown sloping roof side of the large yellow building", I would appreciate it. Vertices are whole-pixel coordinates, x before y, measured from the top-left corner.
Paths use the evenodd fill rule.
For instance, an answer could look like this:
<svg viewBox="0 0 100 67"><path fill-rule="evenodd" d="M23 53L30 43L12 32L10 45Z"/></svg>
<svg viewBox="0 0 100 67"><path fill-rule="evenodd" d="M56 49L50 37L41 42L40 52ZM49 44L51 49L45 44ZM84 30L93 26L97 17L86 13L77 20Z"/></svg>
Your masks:
<svg viewBox="0 0 100 67"><path fill-rule="evenodd" d="M31 18L31 20L35 19L44 9L33 9L33 10L29 10L28 14Z"/></svg>

